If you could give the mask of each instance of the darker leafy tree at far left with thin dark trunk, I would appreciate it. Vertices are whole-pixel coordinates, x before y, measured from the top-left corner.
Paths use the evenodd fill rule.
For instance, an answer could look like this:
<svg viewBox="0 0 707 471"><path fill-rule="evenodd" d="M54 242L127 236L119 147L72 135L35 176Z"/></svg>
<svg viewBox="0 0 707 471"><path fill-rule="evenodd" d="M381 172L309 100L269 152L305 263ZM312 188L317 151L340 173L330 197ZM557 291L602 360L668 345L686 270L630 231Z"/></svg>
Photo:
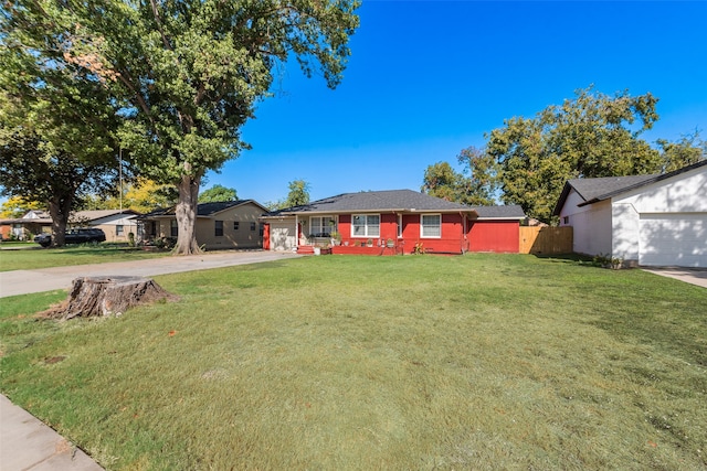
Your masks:
<svg viewBox="0 0 707 471"><path fill-rule="evenodd" d="M50 11L18 1L0 13L0 186L44 203L61 246L71 211L117 176L118 104L94 56L65 54L72 34Z"/></svg>

